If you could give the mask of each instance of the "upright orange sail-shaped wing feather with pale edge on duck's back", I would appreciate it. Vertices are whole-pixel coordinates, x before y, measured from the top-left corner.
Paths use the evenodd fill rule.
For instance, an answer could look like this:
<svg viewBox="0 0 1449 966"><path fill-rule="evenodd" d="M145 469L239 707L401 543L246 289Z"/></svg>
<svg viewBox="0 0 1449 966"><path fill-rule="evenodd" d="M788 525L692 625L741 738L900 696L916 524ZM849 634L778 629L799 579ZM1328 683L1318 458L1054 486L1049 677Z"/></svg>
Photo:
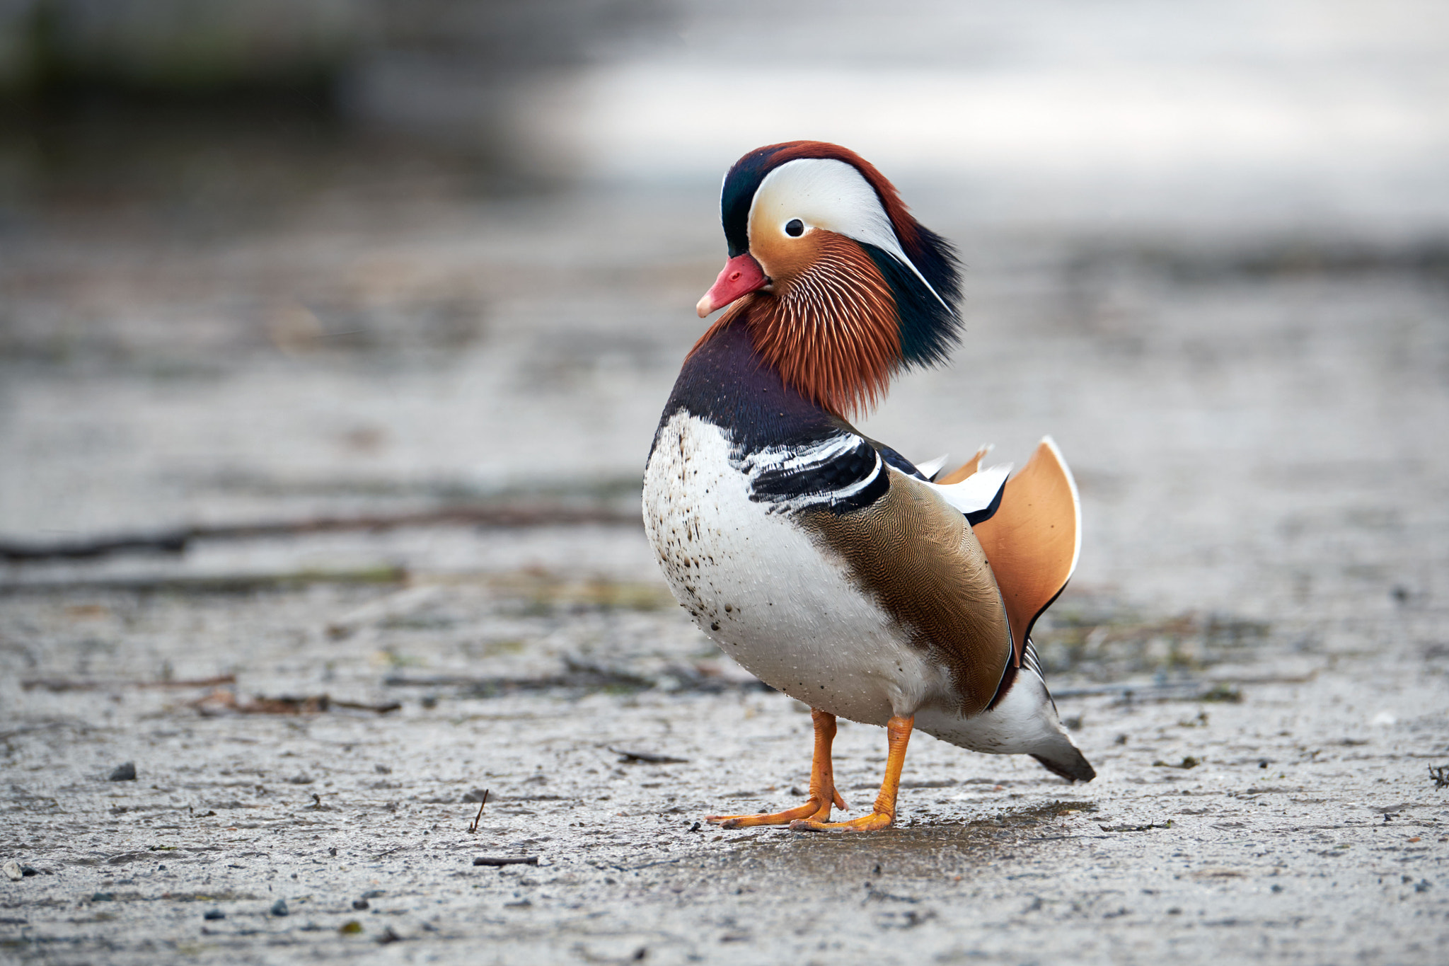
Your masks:
<svg viewBox="0 0 1449 966"><path fill-rule="evenodd" d="M964 484L980 475L968 475ZM1082 545L1077 481L1051 436L1042 439L1022 472L1006 481L995 513L972 521L972 532L1001 588L1013 662L1020 666L1036 618L1066 587Z"/></svg>

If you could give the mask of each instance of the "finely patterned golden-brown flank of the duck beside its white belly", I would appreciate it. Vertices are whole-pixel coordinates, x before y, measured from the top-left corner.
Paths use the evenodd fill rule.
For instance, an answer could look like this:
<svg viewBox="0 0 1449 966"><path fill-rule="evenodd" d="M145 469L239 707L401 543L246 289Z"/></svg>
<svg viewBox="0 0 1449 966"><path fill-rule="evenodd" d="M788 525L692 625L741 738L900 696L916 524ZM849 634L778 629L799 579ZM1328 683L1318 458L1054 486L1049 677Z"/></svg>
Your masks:
<svg viewBox="0 0 1449 966"><path fill-rule="evenodd" d="M913 643L949 669L959 713L977 714L1013 659L991 565L945 488L894 466L888 472L888 490L869 505L843 513L820 507L797 520Z"/></svg>

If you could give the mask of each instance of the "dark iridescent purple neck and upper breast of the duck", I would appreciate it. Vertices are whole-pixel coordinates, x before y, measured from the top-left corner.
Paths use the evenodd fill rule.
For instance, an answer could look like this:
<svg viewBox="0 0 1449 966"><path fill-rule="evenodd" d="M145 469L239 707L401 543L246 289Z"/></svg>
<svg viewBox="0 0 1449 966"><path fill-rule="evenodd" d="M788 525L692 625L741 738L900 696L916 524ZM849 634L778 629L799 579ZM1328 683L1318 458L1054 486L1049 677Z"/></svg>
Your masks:
<svg viewBox="0 0 1449 966"><path fill-rule="evenodd" d="M726 429L746 450L810 442L848 427L784 381L738 316L714 326L685 359L661 426L681 410Z"/></svg>

